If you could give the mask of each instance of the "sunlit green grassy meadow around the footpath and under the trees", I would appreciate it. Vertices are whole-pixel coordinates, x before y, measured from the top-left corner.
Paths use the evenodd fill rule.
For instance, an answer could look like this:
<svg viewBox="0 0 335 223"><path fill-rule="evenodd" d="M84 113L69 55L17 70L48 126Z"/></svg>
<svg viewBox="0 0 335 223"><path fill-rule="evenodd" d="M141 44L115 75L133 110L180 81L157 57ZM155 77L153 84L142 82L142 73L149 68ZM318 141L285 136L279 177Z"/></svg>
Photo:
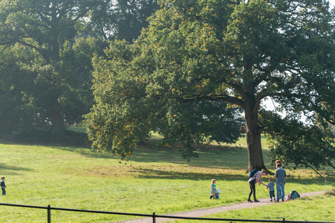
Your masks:
<svg viewBox="0 0 335 223"><path fill-rule="evenodd" d="M50 204L57 208L165 215L246 201L249 186L245 139L230 146L200 146L200 157L186 162L177 147L156 149L156 138L154 135L147 146L137 148L127 162L120 162L108 151L97 153L91 148L20 145L0 141L0 175L6 176L7 185L7 195L0 197L0 203ZM268 169L274 171L267 156L266 139L262 144L265 163ZM335 188L334 178L326 181L309 169L287 173L286 194L291 190L304 193ZM209 200L211 178L217 180L216 187L221 190L220 200ZM267 183L268 177L262 180ZM259 199L268 197L269 192L265 192L264 188L258 186L256 189ZM318 213L322 208L334 216L335 196L330 194L311 201L309 198L301 199L211 217L305 220L306 213ZM291 210L302 205L302 209L296 207ZM290 215L290 211L294 211L295 215ZM52 210L52 222L117 222L133 218ZM43 209L0 206L0 222L46 220L47 213ZM308 220L321 219L309 217Z"/></svg>

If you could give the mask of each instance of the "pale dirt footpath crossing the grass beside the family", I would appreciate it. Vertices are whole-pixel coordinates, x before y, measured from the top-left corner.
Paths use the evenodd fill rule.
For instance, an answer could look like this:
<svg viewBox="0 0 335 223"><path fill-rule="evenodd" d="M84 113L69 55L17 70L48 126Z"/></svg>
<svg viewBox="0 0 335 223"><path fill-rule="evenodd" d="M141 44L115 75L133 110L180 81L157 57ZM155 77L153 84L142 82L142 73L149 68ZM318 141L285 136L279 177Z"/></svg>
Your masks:
<svg viewBox="0 0 335 223"><path fill-rule="evenodd" d="M300 197L309 197L309 196L315 196L319 194L323 194L325 191L319 191L319 192L308 192L304 194L300 194ZM290 202L290 201L288 201ZM165 216L178 216L178 217L202 217L204 215L211 215L211 214L216 214L216 213L221 213L227 210L238 210L242 208L255 208L258 206L265 206L269 204L275 204L276 202L271 202L269 198L266 199L260 199L259 203L235 203L232 205L228 206L222 206L218 208L207 208L207 209L200 209L200 210L191 210L191 211L186 211L182 213L173 213L173 214L168 214ZM281 203L281 202L280 202ZM159 213L156 213L159 215ZM172 222L176 219L172 218L162 218L162 217L156 217L156 222ZM122 221L118 223L151 223L152 222L152 217L146 217L142 219L137 219L137 220L129 220L129 221Z"/></svg>

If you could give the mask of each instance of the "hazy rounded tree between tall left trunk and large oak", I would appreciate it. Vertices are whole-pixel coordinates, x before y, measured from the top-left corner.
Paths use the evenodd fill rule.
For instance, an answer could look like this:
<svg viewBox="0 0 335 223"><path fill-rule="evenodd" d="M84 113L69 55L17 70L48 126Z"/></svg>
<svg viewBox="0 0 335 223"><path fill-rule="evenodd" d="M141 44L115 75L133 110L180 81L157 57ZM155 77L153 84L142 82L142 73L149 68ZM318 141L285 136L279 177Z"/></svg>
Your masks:
<svg viewBox="0 0 335 223"><path fill-rule="evenodd" d="M75 38L71 50L61 55L62 91L58 98L66 123L80 123L93 105L92 58L103 54L105 45L96 38Z"/></svg>

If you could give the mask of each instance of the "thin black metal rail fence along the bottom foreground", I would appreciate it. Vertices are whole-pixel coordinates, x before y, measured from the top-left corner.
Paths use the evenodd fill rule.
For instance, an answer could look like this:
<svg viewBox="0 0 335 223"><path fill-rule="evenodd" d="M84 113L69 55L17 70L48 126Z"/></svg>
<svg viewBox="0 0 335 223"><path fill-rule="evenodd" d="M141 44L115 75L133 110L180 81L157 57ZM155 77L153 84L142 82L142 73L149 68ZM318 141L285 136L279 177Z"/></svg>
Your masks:
<svg viewBox="0 0 335 223"><path fill-rule="evenodd" d="M14 206L21 208L37 208L47 210L47 223L51 223L51 210L64 210L72 212L82 212L82 213L98 213L98 214L109 214L109 215L132 215L140 217L151 217L152 222L156 223L157 217L170 218L176 220L209 220L209 221L220 221L220 222L278 222L278 223L335 223L335 222L306 222L306 221L290 221L290 220L250 220L250 219L233 219L233 218L212 218L212 217L181 217L181 216L170 216L170 215L156 215L152 213L149 214L136 214L136 213L121 213L121 212L110 212L110 211L101 211L101 210L82 210L82 209L70 209L70 208L53 208L50 206L29 206L22 204L13 204L13 203L0 203L0 206Z"/></svg>

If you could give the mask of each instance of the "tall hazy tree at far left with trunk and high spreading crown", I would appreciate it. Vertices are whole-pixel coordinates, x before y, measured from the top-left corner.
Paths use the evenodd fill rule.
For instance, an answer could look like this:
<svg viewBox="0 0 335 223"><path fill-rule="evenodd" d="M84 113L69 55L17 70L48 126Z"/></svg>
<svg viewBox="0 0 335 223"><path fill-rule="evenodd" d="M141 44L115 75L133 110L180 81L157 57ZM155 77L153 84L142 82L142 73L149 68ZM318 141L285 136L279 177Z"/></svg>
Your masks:
<svg viewBox="0 0 335 223"><path fill-rule="evenodd" d="M89 11L99 1L0 1L0 45L18 43L34 49L43 60L31 64L38 75L34 99L37 107L50 117L52 134L61 135L67 81L64 58ZM70 75L77 75L71 73ZM67 88L68 89L68 88Z"/></svg>

